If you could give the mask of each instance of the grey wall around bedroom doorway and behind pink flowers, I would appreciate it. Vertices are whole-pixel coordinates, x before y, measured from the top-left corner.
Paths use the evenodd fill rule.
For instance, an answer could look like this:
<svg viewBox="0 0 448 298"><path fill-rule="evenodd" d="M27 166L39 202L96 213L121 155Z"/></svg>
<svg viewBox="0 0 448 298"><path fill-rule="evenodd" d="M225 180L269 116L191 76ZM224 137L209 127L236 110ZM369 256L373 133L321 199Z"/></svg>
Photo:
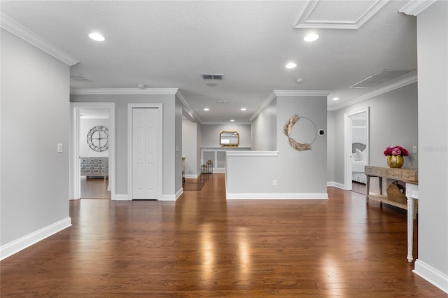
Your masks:
<svg viewBox="0 0 448 298"><path fill-rule="evenodd" d="M335 182L344 185L344 113L363 110L370 106L370 164L387 166L383 155L387 146L402 146L409 151L403 167L416 169L418 154L412 153L417 146L417 85L416 83L372 97L357 104L333 111ZM330 145L328 148L331 148ZM331 181L331 180L330 180Z"/></svg>

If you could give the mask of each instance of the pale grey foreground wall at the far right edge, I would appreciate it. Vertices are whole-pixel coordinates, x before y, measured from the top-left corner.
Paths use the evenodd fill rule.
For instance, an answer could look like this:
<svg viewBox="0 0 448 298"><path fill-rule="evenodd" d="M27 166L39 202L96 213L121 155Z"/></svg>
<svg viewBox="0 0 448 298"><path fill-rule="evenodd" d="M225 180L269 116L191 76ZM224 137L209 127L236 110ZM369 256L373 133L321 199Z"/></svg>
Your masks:
<svg viewBox="0 0 448 298"><path fill-rule="evenodd" d="M448 293L448 2L417 15L419 255L415 272Z"/></svg>

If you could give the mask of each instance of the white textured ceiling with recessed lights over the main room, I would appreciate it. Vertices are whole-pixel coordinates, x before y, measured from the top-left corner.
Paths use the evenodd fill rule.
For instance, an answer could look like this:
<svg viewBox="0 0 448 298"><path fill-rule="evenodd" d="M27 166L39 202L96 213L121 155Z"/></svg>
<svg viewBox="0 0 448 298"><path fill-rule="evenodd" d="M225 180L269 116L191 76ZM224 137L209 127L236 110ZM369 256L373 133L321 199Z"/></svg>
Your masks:
<svg viewBox="0 0 448 298"><path fill-rule="evenodd" d="M87 80L71 80L73 92L179 88L197 121L247 123L273 90L319 91L335 110L391 83L415 81L416 19L399 13L406 3L3 0L0 8L3 19L79 61L71 76ZM106 41L90 40L92 31ZM303 41L311 32L318 40ZM297 67L286 69L288 62ZM377 87L349 88L384 69L411 72Z"/></svg>

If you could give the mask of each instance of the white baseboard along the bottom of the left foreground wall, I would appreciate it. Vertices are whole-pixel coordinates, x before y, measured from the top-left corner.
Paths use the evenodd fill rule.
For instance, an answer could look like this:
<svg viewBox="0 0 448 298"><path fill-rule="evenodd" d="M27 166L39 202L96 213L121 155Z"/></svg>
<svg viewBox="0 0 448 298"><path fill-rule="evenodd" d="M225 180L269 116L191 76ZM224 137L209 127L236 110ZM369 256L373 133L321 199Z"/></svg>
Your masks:
<svg viewBox="0 0 448 298"><path fill-rule="evenodd" d="M52 223L42 229L38 229L36 232L32 232L27 236L23 236L20 239L17 239L13 242L7 243L4 246L0 247L0 260L4 260L15 253L20 252L20 250L24 250L25 248L32 246L39 241L42 241L49 236L56 234L57 232L66 229L71 226L71 218L64 218L63 220L59 220L58 222Z"/></svg>

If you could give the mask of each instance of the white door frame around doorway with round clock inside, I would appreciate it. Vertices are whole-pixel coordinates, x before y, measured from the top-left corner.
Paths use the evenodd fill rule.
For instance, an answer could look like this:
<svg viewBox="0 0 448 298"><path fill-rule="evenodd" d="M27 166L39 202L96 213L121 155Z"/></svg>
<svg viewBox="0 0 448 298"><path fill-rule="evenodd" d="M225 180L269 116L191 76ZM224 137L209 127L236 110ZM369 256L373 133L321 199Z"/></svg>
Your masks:
<svg viewBox="0 0 448 298"><path fill-rule="evenodd" d="M116 199L115 173L115 103L113 102L71 102L71 153L70 153L70 198L80 199L80 108L109 109L109 187L111 199Z"/></svg>

